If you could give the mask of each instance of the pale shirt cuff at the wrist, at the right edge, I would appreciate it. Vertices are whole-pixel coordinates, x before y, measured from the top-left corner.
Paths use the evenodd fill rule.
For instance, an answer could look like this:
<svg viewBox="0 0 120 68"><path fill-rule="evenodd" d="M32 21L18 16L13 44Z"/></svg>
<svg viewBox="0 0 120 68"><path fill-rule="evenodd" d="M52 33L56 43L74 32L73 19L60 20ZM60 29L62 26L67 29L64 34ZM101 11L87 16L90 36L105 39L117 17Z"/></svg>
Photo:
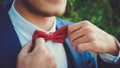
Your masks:
<svg viewBox="0 0 120 68"><path fill-rule="evenodd" d="M120 63L120 43L118 42L118 40L115 38L115 42L119 48L119 53L117 56L113 56L111 54L99 54L100 58L107 63L115 63L118 64Z"/></svg>

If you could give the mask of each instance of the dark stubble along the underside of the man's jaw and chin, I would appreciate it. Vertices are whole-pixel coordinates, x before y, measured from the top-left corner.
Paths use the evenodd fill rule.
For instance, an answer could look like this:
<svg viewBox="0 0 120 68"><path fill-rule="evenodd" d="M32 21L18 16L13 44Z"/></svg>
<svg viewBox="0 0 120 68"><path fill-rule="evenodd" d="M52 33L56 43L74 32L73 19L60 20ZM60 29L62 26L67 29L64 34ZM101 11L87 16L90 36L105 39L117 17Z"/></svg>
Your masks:
<svg viewBox="0 0 120 68"><path fill-rule="evenodd" d="M50 17L50 16L60 16L65 12L65 7L59 9L59 7L49 8L47 10L42 10L40 8L35 7L33 4L29 3L27 0L21 0L25 8L32 14L43 16L43 17ZM49 5L48 5L49 6ZM53 10L51 10L53 9Z"/></svg>

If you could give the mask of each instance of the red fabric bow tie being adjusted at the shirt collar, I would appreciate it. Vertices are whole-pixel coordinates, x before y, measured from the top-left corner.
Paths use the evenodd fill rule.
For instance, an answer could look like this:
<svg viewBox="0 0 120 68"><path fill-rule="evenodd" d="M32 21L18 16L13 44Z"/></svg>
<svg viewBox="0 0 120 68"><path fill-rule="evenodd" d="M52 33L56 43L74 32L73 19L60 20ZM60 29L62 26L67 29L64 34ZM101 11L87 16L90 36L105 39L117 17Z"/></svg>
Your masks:
<svg viewBox="0 0 120 68"><path fill-rule="evenodd" d="M68 25L61 27L57 31L46 34L45 32L35 30L32 41L34 42L38 37L43 37L45 41L52 40L54 42L63 43L67 37Z"/></svg>

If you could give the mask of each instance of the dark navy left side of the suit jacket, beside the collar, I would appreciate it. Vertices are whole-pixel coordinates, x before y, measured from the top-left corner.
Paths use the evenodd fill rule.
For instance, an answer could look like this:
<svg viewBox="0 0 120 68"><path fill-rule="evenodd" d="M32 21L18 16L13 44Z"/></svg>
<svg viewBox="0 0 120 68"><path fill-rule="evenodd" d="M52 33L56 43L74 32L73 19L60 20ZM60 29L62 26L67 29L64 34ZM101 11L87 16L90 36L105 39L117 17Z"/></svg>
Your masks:
<svg viewBox="0 0 120 68"><path fill-rule="evenodd" d="M21 44L5 8L0 8L0 65L5 68L15 68L16 57L21 50Z"/></svg>

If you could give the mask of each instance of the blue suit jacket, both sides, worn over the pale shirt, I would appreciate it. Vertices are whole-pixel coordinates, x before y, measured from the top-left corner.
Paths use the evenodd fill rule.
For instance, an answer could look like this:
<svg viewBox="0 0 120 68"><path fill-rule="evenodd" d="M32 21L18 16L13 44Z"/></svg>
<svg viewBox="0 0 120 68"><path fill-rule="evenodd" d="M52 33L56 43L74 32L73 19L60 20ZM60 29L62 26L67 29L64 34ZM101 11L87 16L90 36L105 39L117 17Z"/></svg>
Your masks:
<svg viewBox="0 0 120 68"><path fill-rule="evenodd" d="M16 68L17 55L22 48L8 16L9 7L4 5L0 8L0 68ZM70 22L57 18L56 29L66 24L70 24ZM68 68L97 68L95 58L89 51L76 52L69 39L65 40L64 48L67 54Z"/></svg>

